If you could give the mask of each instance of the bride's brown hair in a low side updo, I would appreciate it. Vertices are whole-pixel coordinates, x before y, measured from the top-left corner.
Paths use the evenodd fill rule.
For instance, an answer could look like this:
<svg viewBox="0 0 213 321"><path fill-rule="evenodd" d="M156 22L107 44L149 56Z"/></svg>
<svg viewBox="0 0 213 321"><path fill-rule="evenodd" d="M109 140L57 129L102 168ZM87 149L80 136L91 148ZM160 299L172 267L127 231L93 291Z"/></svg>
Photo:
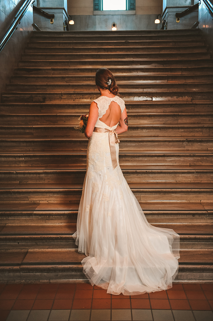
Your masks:
<svg viewBox="0 0 213 321"><path fill-rule="evenodd" d="M108 82L111 79L111 84ZM107 68L100 68L95 75L95 84L102 89L108 89L112 94L118 95L118 86L115 84L115 78L111 71Z"/></svg>

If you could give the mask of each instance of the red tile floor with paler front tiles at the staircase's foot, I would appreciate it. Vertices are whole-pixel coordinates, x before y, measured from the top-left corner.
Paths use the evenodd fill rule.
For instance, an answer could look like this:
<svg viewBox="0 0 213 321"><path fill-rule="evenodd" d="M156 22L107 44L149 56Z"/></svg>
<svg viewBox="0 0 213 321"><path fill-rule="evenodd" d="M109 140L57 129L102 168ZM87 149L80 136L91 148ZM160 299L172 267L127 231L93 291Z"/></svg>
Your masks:
<svg viewBox="0 0 213 321"><path fill-rule="evenodd" d="M88 283L0 284L1 321L212 321L213 284L111 295Z"/></svg>

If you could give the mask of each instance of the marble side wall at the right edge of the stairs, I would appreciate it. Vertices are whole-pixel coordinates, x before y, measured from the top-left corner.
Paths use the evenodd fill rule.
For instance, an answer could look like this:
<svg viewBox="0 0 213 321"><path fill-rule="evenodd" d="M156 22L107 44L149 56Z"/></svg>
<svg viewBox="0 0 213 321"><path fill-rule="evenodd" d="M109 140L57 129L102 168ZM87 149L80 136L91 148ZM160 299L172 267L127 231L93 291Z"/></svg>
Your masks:
<svg viewBox="0 0 213 321"><path fill-rule="evenodd" d="M202 1L199 6L199 22L199 28L203 32L205 43L209 45L209 50L213 56L213 20Z"/></svg>

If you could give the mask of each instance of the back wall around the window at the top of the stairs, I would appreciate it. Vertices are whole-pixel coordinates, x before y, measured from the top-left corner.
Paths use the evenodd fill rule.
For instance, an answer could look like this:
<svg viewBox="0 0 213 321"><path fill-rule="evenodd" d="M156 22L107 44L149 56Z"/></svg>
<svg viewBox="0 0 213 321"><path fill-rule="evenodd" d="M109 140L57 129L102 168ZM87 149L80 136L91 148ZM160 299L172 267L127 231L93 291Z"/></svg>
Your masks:
<svg viewBox="0 0 213 321"><path fill-rule="evenodd" d="M93 0L67 0L67 7L75 21L69 30L111 30L113 22L117 30L155 30L159 29L154 20L161 13L162 0L136 0L134 14L93 15Z"/></svg>

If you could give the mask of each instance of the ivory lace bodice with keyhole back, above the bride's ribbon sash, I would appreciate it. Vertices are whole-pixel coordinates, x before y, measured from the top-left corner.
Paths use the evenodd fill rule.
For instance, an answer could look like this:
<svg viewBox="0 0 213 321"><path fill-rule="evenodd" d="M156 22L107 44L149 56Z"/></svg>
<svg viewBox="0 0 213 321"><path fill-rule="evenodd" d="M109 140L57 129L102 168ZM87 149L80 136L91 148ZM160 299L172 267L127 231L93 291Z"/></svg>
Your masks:
<svg viewBox="0 0 213 321"><path fill-rule="evenodd" d="M95 124L95 127L99 127L99 128L107 128L107 129L115 129L117 127L118 124L109 127L107 126L105 123L103 123L99 118L103 117L104 114L106 114L106 110L109 108L109 105L111 104L112 101L116 102L120 108L121 108L121 113L124 111L125 108L125 103L124 100L122 100L122 98L115 96L113 98L109 98L106 96L100 96L99 98L93 100L97 103L98 108L99 108L99 117L98 120Z"/></svg>

